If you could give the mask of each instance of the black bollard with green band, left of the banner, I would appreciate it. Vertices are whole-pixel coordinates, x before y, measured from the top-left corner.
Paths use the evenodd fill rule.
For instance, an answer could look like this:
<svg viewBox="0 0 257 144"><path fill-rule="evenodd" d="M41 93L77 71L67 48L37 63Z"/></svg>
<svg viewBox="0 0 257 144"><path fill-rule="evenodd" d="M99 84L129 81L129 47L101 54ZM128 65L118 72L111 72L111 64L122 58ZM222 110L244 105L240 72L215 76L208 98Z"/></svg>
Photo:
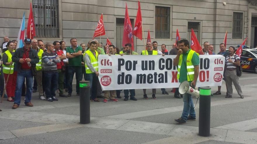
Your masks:
<svg viewBox="0 0 257 144"><path fill-rule="evenodd" d="M80 123L90 123L90 81L79 82L80 93Z"/></svg>

